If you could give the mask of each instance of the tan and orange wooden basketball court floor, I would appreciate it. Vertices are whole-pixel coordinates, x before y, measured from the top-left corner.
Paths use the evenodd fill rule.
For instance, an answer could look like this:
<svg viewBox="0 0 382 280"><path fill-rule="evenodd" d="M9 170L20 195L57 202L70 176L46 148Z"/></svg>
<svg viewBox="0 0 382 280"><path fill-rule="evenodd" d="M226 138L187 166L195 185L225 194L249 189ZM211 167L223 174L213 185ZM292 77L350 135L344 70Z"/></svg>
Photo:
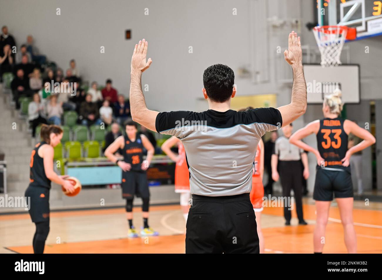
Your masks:
<svg viewBox="0 0 382 280"><path fill-rule="evenodd" d="M382 203L358 204L353 210L358 253L382 253ZM136 228L142 226L140 211L134 208ZM295 211L292 216L292 226L286 227L282 208L264 208L265 253L312 253L315 206L304 200L308 226L297 225ZM335 203L329 217L324 253L346 253ZM160 236L129 239L123 208L52 212L44 253L185 253L180 206L152 206L149 223ZM34 230L28 213L0 216L0 253L32 253Z"/></svg>

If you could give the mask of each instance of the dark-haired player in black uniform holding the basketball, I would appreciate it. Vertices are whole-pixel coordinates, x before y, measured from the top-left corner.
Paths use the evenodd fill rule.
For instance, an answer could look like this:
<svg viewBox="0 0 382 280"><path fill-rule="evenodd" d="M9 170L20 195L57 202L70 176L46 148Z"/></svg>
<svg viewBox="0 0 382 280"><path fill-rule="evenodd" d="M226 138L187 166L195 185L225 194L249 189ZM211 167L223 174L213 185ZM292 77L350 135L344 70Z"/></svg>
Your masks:
<svg viewBox="0 0 382 280"><path fill-rule="evenodd" d="M44 253L45 241L49 234L49 193L50 182L53 181L63 186L70 193L74 187L65 178L68 175L57 175L53 170L53 147L60 144L63 131L57 125L42 125L41 139L32 150L29 186L25 191L25 197L30 197L30 209L32 222L36 224L36 232L33 237L33 251L35 254Z"/></svg>

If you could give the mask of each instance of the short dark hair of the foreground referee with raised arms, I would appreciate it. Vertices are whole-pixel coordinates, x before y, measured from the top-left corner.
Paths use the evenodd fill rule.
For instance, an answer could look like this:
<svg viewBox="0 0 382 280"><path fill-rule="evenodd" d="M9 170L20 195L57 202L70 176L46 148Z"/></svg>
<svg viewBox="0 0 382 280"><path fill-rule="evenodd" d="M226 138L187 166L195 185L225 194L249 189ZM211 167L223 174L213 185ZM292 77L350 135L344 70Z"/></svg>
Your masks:
<svg viewBox="0 0 382 280"><path fill-rule="evenodd" d="M231 97L234 80L233 70L223 64L214 64L203 73L203 85L207 96L215 102L225 102Z"/></svg>

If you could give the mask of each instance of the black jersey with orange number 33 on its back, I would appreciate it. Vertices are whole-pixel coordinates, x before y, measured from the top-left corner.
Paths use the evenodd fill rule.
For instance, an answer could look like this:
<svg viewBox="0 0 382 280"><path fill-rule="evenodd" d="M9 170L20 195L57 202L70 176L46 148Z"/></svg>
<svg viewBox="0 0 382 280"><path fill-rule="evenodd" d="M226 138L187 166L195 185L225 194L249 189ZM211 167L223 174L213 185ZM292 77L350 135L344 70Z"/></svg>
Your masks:
<svg viewBox="0 0 382 280"><path fill-rule="evenodd" d="M343 130L343 118L323 118L317 133L317 146L325 167L343 168L341 160L348 150L348 134Z"/></svg>

